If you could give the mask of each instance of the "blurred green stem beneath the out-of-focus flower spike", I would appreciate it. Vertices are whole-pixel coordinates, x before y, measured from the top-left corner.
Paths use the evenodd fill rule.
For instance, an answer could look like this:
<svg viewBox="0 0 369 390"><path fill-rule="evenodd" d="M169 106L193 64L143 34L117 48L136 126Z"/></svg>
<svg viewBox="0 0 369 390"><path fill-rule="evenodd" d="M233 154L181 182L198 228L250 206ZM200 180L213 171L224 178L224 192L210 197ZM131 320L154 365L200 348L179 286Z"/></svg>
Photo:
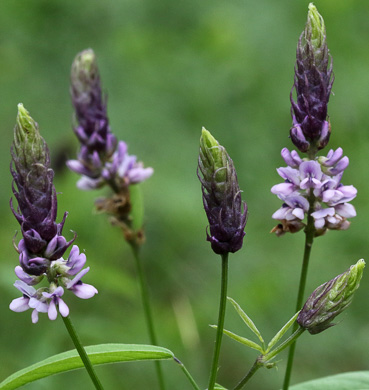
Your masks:
<svg viewBox="0 0 369 390"><path fill-rule="evenodd" d="M158 345L156 333L155 333L155 329L154 329L154 320L153 320L153 316L152 316L152 312L151 312L149 292L147 289L146 278L145 278L143 267L141 264L141 259L140 259L139 253L138 253L139 247L134 245L134 244L131 244L131 248L133 251L134 258L135 258L136 271L137 271L137 276L138 276L139 285L140 285L140 289L141 289L142 306L143 306L144 312L145 312L145 318L146 318L147 328L149 331L150 342L152 345ZM156 369L156 375L158 377L160 389L165 390L163 371L162 371L162 367L161 367L160 362L158 362L158 361L155 362L155 369Z"/></svg>

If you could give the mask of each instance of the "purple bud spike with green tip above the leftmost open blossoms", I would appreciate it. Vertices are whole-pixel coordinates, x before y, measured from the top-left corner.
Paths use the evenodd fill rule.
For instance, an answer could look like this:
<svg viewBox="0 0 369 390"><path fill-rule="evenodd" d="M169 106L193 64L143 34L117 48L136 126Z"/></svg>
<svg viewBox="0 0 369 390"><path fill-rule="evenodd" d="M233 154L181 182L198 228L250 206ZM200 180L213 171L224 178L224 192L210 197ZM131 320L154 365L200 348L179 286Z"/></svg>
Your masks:
<svg viewBox="0 0 369 390"><path fill-rule="evenodd" d="M54 173L50 155L37 123L22 104L18 105L17 123L11 148L13 194L18 209L11 209L21 225L28 251L38 253L58 230Z"/></svg>

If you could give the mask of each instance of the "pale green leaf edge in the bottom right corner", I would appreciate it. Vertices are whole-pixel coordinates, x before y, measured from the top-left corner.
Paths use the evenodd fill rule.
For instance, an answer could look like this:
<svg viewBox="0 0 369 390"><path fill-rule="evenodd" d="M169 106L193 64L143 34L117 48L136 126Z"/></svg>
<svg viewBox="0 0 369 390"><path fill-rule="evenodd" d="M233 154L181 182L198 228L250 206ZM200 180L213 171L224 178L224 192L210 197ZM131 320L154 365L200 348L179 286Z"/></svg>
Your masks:
<svg viewBox="0 0 369 390"><path fill-rule="evenodd" d="M369 389L369 371L345 372L324 378L300 383L290 390L367 390Z"/></svg>

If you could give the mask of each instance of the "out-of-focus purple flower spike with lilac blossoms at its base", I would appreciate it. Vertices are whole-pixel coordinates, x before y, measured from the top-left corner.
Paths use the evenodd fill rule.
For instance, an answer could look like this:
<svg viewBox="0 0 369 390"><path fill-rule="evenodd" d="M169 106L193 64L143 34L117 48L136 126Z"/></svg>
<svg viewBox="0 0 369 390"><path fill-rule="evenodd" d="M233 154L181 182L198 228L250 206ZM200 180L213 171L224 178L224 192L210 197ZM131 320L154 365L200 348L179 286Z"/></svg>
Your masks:
<svg viewBox="0 0 369 390"><path fill-rule="evenodd" d="M77 124L74 132L81 144L77 160L68 167L82 175L77 186L91 190L108 184L116 193L140 183L153 174L136 156L127 153L125 142L111 133L100 76L93 50L79 53L72 65L71 96Z"/></svg>

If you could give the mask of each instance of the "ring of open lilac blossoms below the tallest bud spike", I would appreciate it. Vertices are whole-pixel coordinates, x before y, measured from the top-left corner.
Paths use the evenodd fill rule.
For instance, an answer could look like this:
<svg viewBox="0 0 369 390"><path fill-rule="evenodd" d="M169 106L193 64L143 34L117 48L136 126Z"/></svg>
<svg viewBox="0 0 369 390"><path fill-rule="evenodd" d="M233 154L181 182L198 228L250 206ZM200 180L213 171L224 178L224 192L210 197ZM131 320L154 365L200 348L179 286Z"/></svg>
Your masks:
<svg viewBox="0 0 369 390"><path fill-rule="evenodd" d="M315 160L301 159L296 151L290 152L287 148L281 154L288 166L277 169L284 183L271 189L283 201L272 216L281 222L273 231L281 235L301 230L308 212L314 218L316 235L327 229L348 229L347 218L356 216L349 202L356 197L357 190L341 183L349 164L349 159L342 157L342 149L330 150L327 157Z"/></svg>

